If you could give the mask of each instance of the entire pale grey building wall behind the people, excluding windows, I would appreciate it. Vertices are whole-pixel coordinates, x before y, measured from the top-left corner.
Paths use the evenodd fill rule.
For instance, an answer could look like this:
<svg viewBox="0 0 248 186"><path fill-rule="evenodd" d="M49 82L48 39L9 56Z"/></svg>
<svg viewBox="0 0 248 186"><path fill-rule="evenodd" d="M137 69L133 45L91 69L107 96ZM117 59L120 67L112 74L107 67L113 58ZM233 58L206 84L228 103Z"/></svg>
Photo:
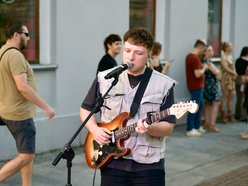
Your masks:
<svg viewBox="0 0 248 186"><path fill-rule="evenodd" d="M247 0L223 0L222 39L234 44L234 56L248 45ZM178 81L176 101L189 100L185 56L196 38L207 37L208 0L157 0L156 40L163 44L161 58L174 58L168 75ZM39 94L56 109L47 120L38 109L37 152L62 148L81 124L79 108L95 78L104 54L103 40L110 33L121 36L129 28L129 1L40 1L40 59L35 68ZM117 57L121 63L121 55ZM49 68L47 68L49 67ZM185 118L178 123L185 123ZM86 129L73 145L82 144ZM0 128L0 160L15 155L14 140Z"/></svg>

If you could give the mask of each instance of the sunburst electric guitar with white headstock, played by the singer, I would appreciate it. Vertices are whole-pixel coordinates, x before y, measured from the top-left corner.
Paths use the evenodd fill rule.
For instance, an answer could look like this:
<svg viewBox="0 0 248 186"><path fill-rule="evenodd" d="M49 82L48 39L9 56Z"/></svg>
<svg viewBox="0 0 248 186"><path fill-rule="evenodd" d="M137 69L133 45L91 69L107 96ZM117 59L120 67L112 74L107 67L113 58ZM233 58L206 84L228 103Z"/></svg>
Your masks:
<svg viewBox="0 0 248 186"><path fill-rule="evenodd" d="M173 104L170 108L157 113L147 113L145 119L148 124L158 122L159 120L166 118L170 115L175 115L177 119L180 119L187 111L195 113L198 110L197 103L193 101L179 102ZM124 140L126 140L130 134L136 132L135 128L137 123L126 126L129 119L129 113L123 112L115 117L110 123L99 123L99 127L105 127L112 131L111 142L109 144L98 144L92 135L88 133L85 140L85 157L87 165L92 169L98 169L107 165L114 157L121 157L128 155L131 150L124 147Z"/></svg>

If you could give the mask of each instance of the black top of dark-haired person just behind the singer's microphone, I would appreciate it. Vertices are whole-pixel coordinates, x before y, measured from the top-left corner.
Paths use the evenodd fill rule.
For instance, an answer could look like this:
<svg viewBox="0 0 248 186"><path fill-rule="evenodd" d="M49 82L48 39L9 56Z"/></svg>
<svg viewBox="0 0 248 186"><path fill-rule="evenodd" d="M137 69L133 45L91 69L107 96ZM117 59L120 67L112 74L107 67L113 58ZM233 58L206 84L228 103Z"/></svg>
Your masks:
<svg viewBox="0 0 248 186"><path fill-rule="evenodd" d="M102 72L117 66L117 62L109 54L105 54L98 63L97 72Z"/></svg>

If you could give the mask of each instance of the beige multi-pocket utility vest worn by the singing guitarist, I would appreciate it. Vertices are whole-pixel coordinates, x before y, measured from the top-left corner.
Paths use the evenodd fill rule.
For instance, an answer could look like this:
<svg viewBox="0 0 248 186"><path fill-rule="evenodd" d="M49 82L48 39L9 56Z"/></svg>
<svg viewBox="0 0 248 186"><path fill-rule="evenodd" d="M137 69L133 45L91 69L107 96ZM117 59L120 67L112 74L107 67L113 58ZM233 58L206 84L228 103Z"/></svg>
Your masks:
<svg viewBox="0 0 248 186"><path fill-rule="evenodd" d="M104 76L113 69L99 72L98 82L101 94L105 94L111 86L112 79L106 80ZM141 99L140 107L134 118L128 120L127 125L136 123L139 119L144 119L147 112L159 112L160 106L163 103L163 98L169 93L169 90L176 82L157 71L152 72L150 81L146 87L143 98ZM101 108L101 120L103 123L111 122L116 116L122 112L130 112L130 107L133 102L138 86L131 88L128 74L124 71L119 76L118 83L111 89L104 100ZM124 158L133 159L139 163L154 163L164 158L165 153L165 138L153 137L147 134L132 134L124 145L131 149L131 153Z"/></svg>

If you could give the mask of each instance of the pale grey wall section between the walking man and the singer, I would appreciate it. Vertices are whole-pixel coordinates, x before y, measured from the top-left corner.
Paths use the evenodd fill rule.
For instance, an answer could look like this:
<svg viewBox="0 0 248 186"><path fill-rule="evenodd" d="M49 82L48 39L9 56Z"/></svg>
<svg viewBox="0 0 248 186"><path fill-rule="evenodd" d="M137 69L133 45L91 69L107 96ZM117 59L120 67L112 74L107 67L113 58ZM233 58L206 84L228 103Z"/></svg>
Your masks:
<svg viewBox="0 0 248 186"><path fill-rule="evenodd" d="M38 109L38 153L62 148L79 128L80 105L105 53L103 40L111 33L122 37L128 30L129 2L42 0L40 22L41 65L34 71L38 92L55 108L56 116L47 120ZM73 145L82 144L85 134L83 129ZM0 136L0 160L11 158L17 153L14 140L5 127Z"/></svg>

